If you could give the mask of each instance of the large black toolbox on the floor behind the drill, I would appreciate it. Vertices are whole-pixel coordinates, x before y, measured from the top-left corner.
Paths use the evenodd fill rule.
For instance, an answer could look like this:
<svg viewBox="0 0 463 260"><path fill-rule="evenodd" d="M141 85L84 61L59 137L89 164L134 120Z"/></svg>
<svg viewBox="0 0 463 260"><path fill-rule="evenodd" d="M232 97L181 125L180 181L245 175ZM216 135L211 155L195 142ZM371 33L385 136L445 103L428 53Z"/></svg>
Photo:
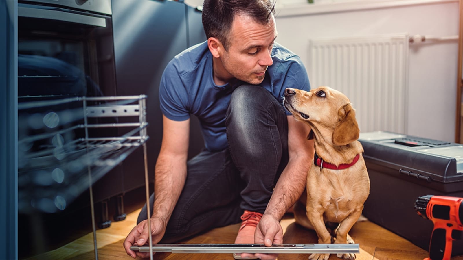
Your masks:
<svg viewBox="0 0 463 260"><path fill-rule="evenodd" d="M433 223L419 217L424 195L463 198L463 145L375 131L361 133L370 194L363 215L428 251ZM463 254L463 237L452 255Z"/></svg>

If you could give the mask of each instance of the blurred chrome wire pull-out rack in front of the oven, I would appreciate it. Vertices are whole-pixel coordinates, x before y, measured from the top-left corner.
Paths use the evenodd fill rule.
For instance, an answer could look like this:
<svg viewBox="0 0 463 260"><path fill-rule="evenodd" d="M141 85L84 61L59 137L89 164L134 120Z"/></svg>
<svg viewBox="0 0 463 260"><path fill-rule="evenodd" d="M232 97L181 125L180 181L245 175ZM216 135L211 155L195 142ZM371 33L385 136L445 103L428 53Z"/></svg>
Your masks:
<svg viewBox="0 0 463 260"><path fill-rule="evenodd" d="M145 146L146 98L33 97L34 101L19 103L19 212L64 210ZM144 147L146 158L145 153Z"/></svg>

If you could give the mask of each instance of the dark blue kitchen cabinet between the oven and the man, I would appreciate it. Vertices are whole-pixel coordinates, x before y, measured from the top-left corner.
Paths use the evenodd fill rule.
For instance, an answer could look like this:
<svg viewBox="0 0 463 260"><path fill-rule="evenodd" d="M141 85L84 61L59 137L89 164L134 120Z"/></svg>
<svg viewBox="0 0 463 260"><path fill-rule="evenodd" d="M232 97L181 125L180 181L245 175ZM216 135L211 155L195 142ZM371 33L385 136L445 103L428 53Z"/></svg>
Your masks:
<svg viewBox="0 0 463 260"><path fill-rule="evenodd" d="M159 108L159 82L167 63L182 50L206 40L201 12L181 2L158 0L113 0L113 33L117 95L148 95L147 143L149 180L154 180L156 158L161 148L163 117ZM191 118L189 157L203 148L199 122ZM132 153L122 163L121 191L144 186L143 150ZM104 178L95 185L95 199L108 195ZM119 180L116 180L119 182ZM101 184L100 184L101 183ZM106 184L105 184L106 183ZM101 187L101 191L97 192ZM116 184L119 186L119 183ZM140 198L140 199L144 199Z"/></svg>

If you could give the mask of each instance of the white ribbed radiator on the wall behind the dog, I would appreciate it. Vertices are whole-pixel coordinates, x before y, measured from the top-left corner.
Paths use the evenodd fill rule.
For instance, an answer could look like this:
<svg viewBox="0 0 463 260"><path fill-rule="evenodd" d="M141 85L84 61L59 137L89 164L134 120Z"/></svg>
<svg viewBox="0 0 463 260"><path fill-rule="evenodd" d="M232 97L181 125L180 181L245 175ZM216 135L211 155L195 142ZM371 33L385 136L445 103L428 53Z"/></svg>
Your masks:
<svg viewBox="0 0 463 260"><path fill-rule="evenodd" d="M408 44L406 34L311 40L311 86L344 93L361 132L406 133Z"/></svg>

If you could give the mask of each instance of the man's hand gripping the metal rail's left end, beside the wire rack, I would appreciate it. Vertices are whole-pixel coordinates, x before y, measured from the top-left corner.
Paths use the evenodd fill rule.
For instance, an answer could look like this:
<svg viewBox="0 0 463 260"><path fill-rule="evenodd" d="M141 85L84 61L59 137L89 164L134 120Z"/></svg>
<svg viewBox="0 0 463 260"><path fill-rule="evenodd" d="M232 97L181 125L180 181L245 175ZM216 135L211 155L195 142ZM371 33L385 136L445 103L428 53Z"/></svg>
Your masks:
<svg viewBox="0 0 463 260"><path fill-rule="evenodd" d="M153 217L150 219L150 226L151 226L151 235L152 235L152 242L156 244L157 242L161 241L166 232L166 225L167 223L163 221L163 219L159 217ZM142 246L146 243L149 243L149 233L148 233L148 220L144 220L140 222L135 228L130 231L129 235L125 238L124 241L124 248L125 252L133 258L141 257L147 258L150 257L150 252L138 252L130 250L131 246Z"/></svg>

